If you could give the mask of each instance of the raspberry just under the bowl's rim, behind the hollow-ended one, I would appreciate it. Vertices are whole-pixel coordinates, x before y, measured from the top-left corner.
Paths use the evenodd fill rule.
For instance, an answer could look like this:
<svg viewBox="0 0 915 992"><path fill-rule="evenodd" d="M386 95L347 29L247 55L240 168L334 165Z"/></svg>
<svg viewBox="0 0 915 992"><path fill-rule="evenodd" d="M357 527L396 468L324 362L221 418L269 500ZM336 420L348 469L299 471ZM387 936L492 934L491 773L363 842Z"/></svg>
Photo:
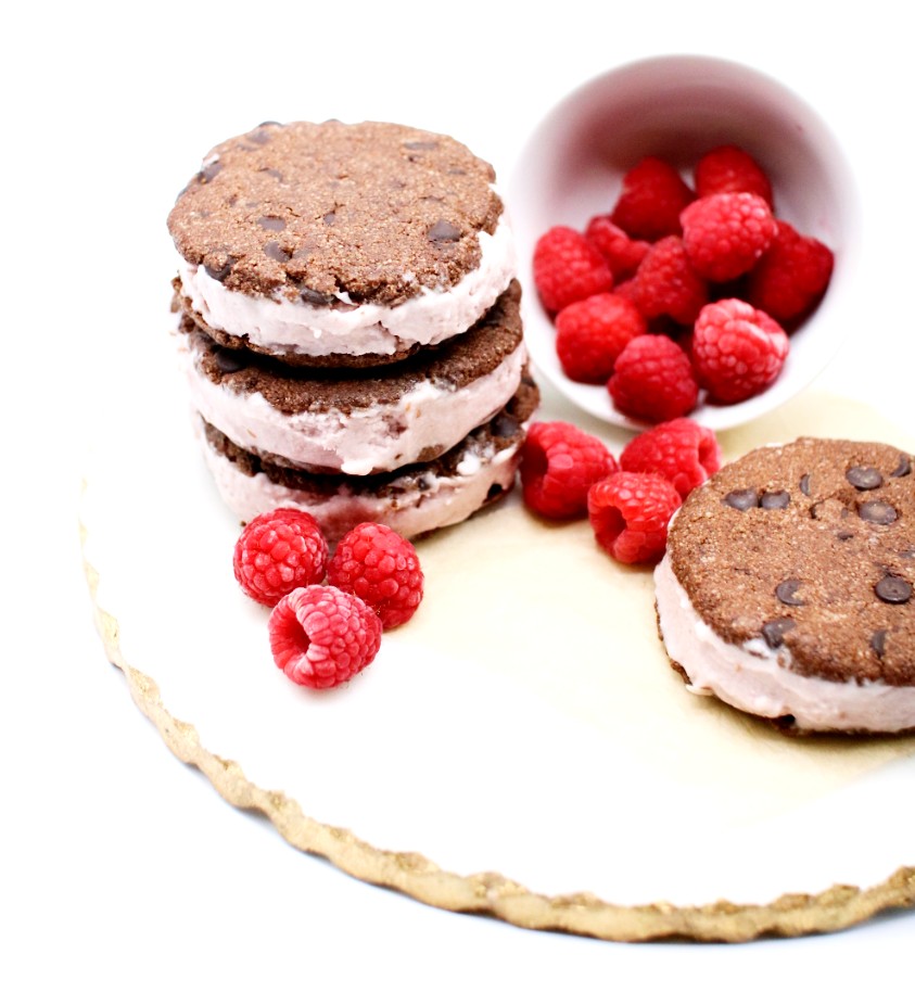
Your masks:
<svg viewBox="0 0 915 992"><path fill-rule="evenodd" d="M721 468L721 447L714 431L678 417L633 437L620 456L620 468L663 475L685 499Z"/></svg>

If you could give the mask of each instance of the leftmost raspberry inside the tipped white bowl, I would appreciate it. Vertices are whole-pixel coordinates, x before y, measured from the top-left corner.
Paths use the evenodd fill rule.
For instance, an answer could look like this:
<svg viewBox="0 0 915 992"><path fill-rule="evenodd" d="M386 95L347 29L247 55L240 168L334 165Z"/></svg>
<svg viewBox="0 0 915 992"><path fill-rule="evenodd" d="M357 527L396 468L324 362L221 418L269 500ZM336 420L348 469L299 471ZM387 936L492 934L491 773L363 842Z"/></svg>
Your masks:
<svg viewBox="0 0 915 992"><path fill-rule="evenodd" d="M534 283L551 313L576 300L606 293L613 276L600 252L569 227L550 228L534 249Z"/></svg>

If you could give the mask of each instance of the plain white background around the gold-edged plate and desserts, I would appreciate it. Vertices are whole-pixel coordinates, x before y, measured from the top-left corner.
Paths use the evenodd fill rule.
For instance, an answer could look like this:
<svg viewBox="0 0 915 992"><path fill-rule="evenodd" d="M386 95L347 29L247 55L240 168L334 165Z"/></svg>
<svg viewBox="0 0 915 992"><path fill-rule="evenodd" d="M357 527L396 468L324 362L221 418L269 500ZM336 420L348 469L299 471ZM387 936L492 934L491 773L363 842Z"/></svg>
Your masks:
<svg viewBox="0 0 915 992"><path fill-rule="evenodd" d="M899 7L565 0L514 10L90 2L34 4L8 21L5 988L350 988L376 977L402 988L641 988L687 969L717 988L790 981L806 968L838 988L868 975L882 987L893 962L904 967L912 913L797 941L625 946L455 916L353 881L228 807L171 758L92 629L76 531L82 452L98 417L130 417L144 342L163 333L175 195L211 145L263 119L445 131L507 178L523 168L518 152L539 117L608 67L699 53L761 68L823 113L861 185L853 333L824 384L915 425L913 69ZM181 583L176 565L164 598L182 595Z"/></svg>

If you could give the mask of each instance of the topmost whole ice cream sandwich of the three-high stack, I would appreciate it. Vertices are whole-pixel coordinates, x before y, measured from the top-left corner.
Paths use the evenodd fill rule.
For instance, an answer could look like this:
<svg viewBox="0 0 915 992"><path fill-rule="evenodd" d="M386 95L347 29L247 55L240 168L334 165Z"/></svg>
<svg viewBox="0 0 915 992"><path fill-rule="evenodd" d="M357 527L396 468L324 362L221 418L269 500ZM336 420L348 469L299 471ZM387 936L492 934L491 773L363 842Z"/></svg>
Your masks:
<svg viewBox="0 0 915 992"><path fill-rule="evenodd" d="M204 330L291 357L436 344L514 275L494 178L442 135L263 124L217 145L168 217L183 306Z"/></svg>

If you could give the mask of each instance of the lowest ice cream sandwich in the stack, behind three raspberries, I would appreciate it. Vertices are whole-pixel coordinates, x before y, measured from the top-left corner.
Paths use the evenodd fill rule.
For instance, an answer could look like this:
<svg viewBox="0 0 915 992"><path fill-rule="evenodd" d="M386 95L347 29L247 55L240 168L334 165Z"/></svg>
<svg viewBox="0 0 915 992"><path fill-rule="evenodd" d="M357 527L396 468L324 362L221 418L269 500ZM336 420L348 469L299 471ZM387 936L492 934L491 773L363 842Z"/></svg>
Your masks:
<svg viewBox="0 0 915 992"><path fill-rule="evenodd" d="M445 455L368 476L308 473L278 465L200 422L207 467L240 520L295 506L317 519L331 543L367 520L417 537L466 520L511 489L525 425L538 398L536 385L525 377L501 412Z"/></svg>

